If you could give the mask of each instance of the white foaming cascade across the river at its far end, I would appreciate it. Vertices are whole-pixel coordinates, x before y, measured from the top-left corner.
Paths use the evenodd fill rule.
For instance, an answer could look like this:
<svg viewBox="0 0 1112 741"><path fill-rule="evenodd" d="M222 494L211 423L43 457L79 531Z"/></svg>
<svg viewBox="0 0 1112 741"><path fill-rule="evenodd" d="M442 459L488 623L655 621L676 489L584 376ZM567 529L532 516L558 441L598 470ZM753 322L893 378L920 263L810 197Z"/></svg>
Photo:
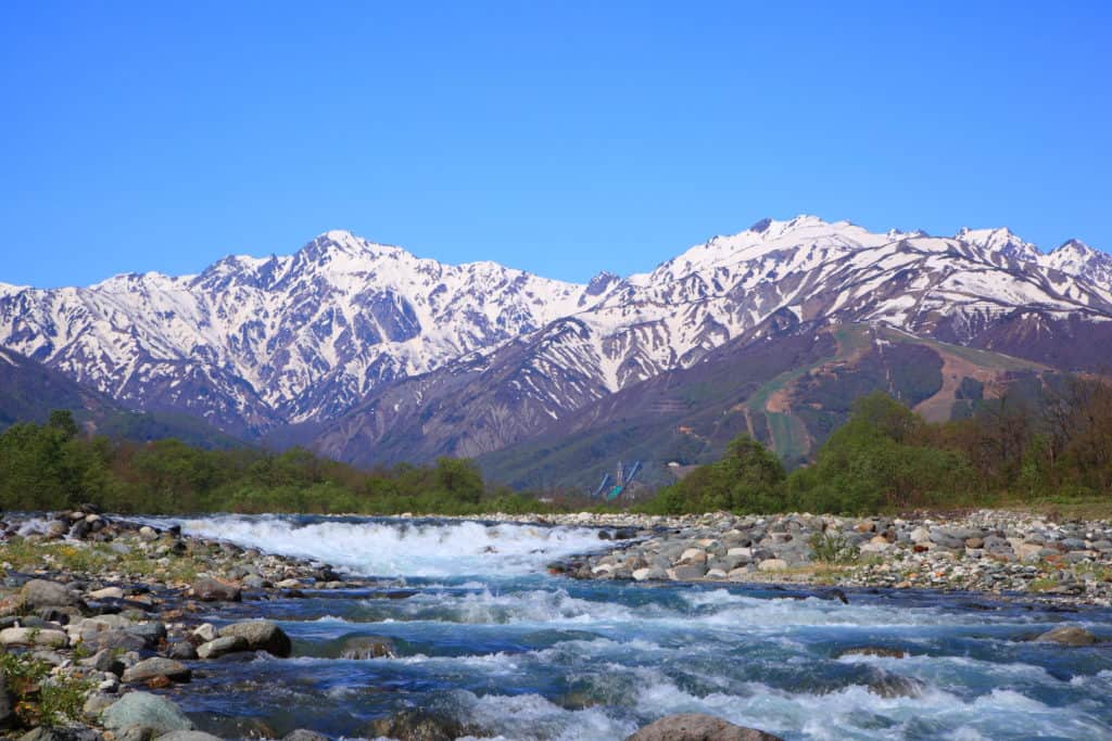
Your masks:
<svg viewBox="0 0 1112 741"><path fill-rule="evenodd" d="M473 521L226 515L173 522L189 534L324 561L365 575L533 573L554 559L597 550L602 544L598 531L589 528Z"/></svg>

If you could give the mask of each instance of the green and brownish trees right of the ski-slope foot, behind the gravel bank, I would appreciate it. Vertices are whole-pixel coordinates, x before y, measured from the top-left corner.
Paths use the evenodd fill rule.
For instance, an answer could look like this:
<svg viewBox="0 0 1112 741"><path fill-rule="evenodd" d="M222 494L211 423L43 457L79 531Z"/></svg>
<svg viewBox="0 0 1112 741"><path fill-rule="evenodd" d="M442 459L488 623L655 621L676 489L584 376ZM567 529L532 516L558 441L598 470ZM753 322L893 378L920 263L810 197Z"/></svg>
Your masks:
<svg viewBox="0 0 1112 741"><path fill-rule="evenodd" d="M1036 394L1005 392L944 423L876 392L855 402L808 465L788 473L741 435L642 509L861 514L1106 498L1110 487L1112 388L1070 378Z"/></svg>

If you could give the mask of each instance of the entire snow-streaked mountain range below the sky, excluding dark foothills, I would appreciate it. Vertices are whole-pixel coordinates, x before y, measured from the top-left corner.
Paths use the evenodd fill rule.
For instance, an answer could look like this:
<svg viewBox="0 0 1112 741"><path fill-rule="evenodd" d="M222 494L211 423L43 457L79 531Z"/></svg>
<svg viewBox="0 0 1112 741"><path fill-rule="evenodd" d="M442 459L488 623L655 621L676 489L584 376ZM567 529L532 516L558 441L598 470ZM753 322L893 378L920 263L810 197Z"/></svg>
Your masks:
<svg viewBox="0 0 1112 741"><path fill-rule="evenodd" d="M301 424L350 457L353 441L374 447L418 420L413 437L476 454L784 324L882 324L1106 366L1109 344L1078 340L1112 334L1110 278L1112 258L1075 241L1043 254L1005 229L936 238L815 217L764 220L586 286L331 231L197 276L0 283L0 346L129 407L237 434ZM468 424L484 432L468 438Z"/></svg>

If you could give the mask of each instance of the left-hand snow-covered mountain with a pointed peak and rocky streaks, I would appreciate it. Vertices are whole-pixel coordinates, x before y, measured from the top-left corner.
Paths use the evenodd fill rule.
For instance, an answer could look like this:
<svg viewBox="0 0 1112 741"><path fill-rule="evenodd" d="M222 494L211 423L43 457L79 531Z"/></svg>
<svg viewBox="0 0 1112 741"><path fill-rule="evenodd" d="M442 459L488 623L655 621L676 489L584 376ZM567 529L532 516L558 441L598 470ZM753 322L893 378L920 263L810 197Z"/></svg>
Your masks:
<svg viewBox="0 0 1112 741"><path fill-rule="evenodd" d="M345 231L289 257L89 288L0 286L0 344L142 409L259 433L575 311L586 287L446 266Z"/></svg>

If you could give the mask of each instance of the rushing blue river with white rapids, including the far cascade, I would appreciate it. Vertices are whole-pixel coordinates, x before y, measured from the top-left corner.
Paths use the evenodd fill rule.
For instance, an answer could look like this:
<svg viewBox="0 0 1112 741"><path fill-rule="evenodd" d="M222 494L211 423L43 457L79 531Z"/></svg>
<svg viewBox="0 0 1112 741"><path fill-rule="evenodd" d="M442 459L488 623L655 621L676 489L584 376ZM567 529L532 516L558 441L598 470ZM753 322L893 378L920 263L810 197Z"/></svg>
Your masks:
<svg viewBox="0 0 1112 741"><path fill-rule="evenodd" d="M162 521L163 523L166 521ZM483 738L624 739L704 712L785 739L1112 739L1112 648L1030 637L1112 612L970 594L578 582L546 573L609 543L588 528L214 517L188 533L379 577L381 588L214 608L279 621L295 658L206 664L176 700L225 738L265 724L330 737L428 709ZM399 590L404 590L399 593ZM398 657L339 658L353 635ZM842 655L861 647L905 658Z"/></svg>

